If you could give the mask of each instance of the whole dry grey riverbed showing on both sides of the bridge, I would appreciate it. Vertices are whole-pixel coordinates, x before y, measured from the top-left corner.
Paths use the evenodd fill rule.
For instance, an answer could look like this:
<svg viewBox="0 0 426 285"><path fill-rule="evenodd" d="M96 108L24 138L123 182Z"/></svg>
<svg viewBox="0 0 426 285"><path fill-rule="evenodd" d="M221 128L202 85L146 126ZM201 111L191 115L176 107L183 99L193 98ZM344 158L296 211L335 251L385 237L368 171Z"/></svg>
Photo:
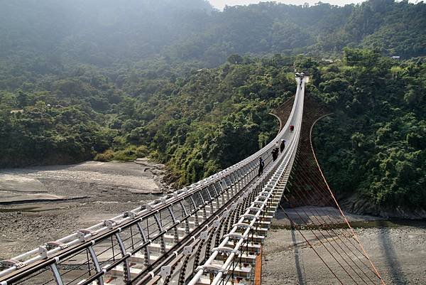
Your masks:
<svg viewBox="0 0 426 285"><path fill-rule="evenodd" d="M153 200L171 190L161 183L164 174L164 166L146 160L1 170L0 259ZM315 208L304 210L307 215L317 214ZM327 215L338 214L334 208L323 208L321 213L326 220ZM298 222L294 211L288 214ZM277 218L263 248L263 284L339 284L301 235L288 230L285 215L278 213ZM349 215L349 220L387 285L426 284L425 222L404 225L361 215ZM310 230L302 233L324 253ZM354 284L334 269L344 284Z"/></svg>

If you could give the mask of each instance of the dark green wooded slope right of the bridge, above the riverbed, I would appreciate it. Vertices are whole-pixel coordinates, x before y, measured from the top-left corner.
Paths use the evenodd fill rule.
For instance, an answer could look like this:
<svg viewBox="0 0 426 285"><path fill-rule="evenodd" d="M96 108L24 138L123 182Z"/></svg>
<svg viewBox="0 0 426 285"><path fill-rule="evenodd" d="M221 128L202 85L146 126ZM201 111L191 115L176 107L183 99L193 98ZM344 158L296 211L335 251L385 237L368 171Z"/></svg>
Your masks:
<svg viewBox="0 0 426 285"><path fill-rule="evenodd" d="M343 62L311 69L310 93L334 112L315 128L332 188L376 205L426 208L426 60L346 49Z"/></svg>

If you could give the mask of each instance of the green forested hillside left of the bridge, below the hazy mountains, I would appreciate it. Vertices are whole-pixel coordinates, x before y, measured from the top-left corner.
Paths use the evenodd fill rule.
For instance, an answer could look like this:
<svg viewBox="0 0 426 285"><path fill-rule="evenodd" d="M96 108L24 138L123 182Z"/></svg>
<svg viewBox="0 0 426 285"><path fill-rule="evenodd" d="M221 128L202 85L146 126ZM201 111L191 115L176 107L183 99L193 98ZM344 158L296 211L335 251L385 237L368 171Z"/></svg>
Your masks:
<svg viewBox="0 0 426 285"><path fill-rule="evenodd" d="M181 183L249 156L275 136L268 112L295 92L290 58L231 57L241 64L183 77L131 70L117 86L90 68L1 92L1 166L148 156ZM168 73L165 72L165 73Z"/></svg>

